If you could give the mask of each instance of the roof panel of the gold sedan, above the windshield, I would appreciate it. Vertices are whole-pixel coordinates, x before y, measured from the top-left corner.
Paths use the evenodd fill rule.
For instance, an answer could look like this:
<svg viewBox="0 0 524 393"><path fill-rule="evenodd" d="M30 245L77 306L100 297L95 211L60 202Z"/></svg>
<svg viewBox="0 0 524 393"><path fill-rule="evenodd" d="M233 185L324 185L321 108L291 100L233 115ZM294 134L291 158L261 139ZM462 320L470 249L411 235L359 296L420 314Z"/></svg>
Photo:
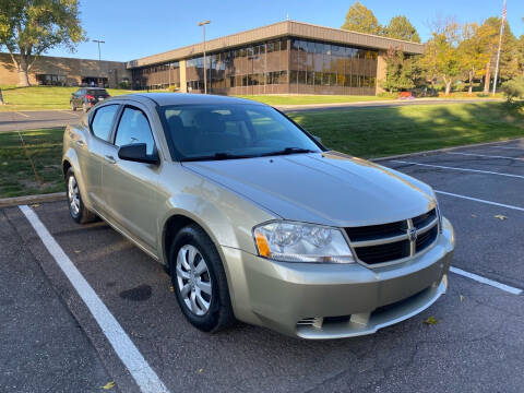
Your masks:
<svg viewBox="0 0 524 393"><path fill-rule="evenodd" d="M166 105L217 105L217 104L254 104L264 105L251 99L218 95L187 94L187 93L134 93L115 97L115 99L134 99L140 102L153 100L159 106Z"/></svg>

